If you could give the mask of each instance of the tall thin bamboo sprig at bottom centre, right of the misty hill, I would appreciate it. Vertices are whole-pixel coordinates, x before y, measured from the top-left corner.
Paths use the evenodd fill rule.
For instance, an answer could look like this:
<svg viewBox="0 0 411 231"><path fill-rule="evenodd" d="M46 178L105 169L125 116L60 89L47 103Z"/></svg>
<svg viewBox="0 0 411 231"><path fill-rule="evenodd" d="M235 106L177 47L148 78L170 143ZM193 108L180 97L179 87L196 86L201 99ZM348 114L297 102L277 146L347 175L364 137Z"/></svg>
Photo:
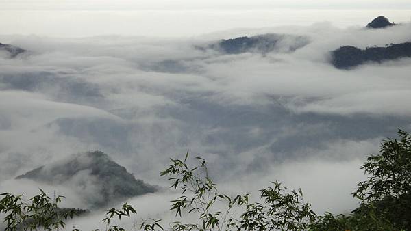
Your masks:
<svg viewBox="0 0 411 231"><path fill-rule="evenodd" d="M171 165L168 169L161 172L161 176L169 176L172 184L171 187L182 191L182 195L173 200L171 210L175 210L176 216L182 216L182 213L196 213L199 216L198 223L182 223L176 221L173 224L173 230L214 230L223 227L230 227L234 219L224 219L230 217L231 208L234 204L244 204L247 202L248 195L244 197L238 195L235 200L229 196L219 194L216 186L208 177L206 161L197 157L199 165L188 167L186 161L171 159ZM222 202L226 204L227 210L222 213L214 210L214 205Z"/></svg>

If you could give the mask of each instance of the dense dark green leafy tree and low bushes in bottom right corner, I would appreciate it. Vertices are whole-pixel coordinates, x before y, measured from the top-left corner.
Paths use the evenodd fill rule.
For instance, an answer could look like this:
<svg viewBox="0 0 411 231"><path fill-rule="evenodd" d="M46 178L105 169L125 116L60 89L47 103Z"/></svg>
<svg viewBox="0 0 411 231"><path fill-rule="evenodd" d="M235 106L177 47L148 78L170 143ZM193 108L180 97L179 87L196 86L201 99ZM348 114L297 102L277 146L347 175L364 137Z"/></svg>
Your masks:
<svg viewBox="0 0 411 231"><path fill-rule="evenodd" d="M362 165L368 178L353 193L360 206L349 215L318 217L313 230L411 230L411 137L398 134Z"/></svg>

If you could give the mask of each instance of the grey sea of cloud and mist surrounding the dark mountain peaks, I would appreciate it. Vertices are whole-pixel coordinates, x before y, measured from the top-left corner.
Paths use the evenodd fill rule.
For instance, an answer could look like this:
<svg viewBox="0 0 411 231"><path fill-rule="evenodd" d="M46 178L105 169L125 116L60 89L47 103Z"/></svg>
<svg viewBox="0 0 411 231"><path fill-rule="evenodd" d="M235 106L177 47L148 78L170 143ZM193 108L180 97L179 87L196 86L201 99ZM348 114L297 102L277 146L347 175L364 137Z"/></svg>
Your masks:
<svg viewBox="0 0 411 231"><path fill-rule="evenodd" d="M199 49L263 33L293 39L264 54ZM295 36L309 42L289 51L300 42ZM190 150L208 160L211 176L225 182L222 191L256 193L279 180L301 187L320 213L343 213L356 205L349 193L364 178L365 155L397 128L411 130L411 60L337 70L329 51L410 40L410 23L382 30L314 23L173 39L0 36L27 50L14 59L0 51L0 189L35 193L34 182L12 178L88 150L165 186L158 172ZM57 190L68 206L80 206L75 191ZM171 196L133 202L154 204L145 212L159 214Z"/></svg>

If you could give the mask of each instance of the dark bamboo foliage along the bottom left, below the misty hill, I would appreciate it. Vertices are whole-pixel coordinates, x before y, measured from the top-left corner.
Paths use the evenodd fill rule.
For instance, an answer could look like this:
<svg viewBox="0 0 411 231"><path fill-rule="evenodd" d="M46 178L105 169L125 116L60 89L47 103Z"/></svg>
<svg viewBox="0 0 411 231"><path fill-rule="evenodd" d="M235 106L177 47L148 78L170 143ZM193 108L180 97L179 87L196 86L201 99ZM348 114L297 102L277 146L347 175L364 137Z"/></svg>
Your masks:
<svg viewBox="0 0 411 231"><path fill-rule="evenodd" d="M66 230L66 220L73 219L74 216L79 214L88 213L88 210L59 208L58 203L64 197L58 196L55 200L51 200L41 189L40 194L30 198L29 202L25 202L23 195L2 193L0 196L3 197L0 200L0 213L4 215L3 224L6 231ZM130 217L130 215L136 213L133 206L127 203L123 204L120 209L111 208L106 210L106 216L102 220L106 226L105 231L125 231L125 228L112 225L112 220L121 220L122 217ZM151 220L143 221L140 230L153 231L155 228L162 229L159 223L161 220ZM73 231L80 230L73 228Z"/></svg>

